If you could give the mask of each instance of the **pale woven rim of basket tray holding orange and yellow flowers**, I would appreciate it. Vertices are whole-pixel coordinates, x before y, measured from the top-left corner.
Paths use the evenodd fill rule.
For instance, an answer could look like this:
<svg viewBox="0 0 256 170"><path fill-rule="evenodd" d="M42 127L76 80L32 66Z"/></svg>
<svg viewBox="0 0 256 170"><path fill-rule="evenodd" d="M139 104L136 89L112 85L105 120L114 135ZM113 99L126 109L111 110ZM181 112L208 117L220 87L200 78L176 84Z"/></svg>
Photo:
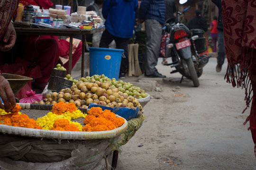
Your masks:
<svg viewBox="0 0 256 170"><path fill-rule="evenodd" d="M51 107L52 107L52 105L38 106L34 104L29 104L29 103L18 103L18 104L21 106L22 113L23 113L23 109L27 109L27 110L35 109L37 111L42 110L42 113L44 115L47 113L46 110L49 111L51 110ZM44 113L43 111L45 111L46 113ZM28 116L29 118L31 118L30 115ZM3 134L9 134L9 135L27 136L27 137L34 137L34 138L49 138L49 139L78 139L78 140L106 139L106 138L113 138L124 133L128 128L127 120L124 119L124 121L125 123L118 128L115 128L113 130L108 130L108 131L99 131L99 132L73 132L73 131L44 130L44 129L34 129L34 128L26 128L26 127L14 127L14 126L7 126L7 125L0 125L0 132Z"/></svg>

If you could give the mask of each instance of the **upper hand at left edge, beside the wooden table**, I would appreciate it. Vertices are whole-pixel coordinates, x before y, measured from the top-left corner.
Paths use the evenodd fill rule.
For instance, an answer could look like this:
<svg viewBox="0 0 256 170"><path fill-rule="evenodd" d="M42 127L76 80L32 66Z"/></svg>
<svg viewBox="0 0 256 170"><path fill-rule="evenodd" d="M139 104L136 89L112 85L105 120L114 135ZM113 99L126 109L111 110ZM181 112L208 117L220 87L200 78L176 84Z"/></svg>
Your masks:
<svg viewBox="0 0 256 170"><path fill-rule="evenodd" d="M16 32L12 23L6 28L0 41L0 51L9 51L15 44Z"/></svg>

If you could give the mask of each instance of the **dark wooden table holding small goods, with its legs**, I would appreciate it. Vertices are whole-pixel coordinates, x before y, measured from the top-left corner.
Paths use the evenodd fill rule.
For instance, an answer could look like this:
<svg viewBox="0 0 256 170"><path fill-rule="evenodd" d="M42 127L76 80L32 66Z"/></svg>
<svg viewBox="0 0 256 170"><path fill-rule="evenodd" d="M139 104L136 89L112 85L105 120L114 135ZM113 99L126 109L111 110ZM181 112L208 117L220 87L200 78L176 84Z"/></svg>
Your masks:
<svg viewBox="0 0 256 170"><path fill-rule="evenodd" d="M29 26L29 27L27 27ZM31 24L23 22L15 22L14 27L16 34L19 35L56 35L56 36L68 36L69 41L69 51L73 48L73 36L82 35L82 66L81 66L81 77L84 76L84 47L85 47L85 35L93 34L96 32L101 32L105 30L105 27L93 29L93 30L83 30L78 28L30 28ZM69 52L68 58L68 74L71 75L72 71L72 52Z"/></svg>

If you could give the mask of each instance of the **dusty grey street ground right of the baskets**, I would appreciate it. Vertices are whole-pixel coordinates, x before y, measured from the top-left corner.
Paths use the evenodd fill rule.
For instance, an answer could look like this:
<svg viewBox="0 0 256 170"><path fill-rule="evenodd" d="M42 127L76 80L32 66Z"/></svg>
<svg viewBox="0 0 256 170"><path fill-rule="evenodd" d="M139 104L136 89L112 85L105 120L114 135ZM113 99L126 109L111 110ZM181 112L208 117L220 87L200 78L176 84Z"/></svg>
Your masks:
<svg viewBox="0 0 256 170"><path fill-rule="evenodd" d="M144 107L146 119L123 145L117 170L256 170L249 123L243 125L249 109L241 114L244 90L226 83L226 68L216 73L215 66L210 59L195 88L157 65L167 76L158 81L163 92L148 91L154 98Z"/></svg>

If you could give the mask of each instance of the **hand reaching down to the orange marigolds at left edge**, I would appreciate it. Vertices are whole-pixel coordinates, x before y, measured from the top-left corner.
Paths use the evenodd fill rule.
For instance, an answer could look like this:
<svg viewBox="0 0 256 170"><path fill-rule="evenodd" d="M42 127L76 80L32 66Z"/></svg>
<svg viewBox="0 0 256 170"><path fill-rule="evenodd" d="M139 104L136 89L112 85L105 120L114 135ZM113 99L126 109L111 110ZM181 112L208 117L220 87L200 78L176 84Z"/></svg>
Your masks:
<svg viewBox="0 0 256 170"><path fill-rule="evenodd" d="M3 105L2 102L0 102L0 108L9 112L11 110L11 106L14 107L16 102L14 93L10 88L10 84L3 76L0 76L0 97L4 103Z"/></svg>

